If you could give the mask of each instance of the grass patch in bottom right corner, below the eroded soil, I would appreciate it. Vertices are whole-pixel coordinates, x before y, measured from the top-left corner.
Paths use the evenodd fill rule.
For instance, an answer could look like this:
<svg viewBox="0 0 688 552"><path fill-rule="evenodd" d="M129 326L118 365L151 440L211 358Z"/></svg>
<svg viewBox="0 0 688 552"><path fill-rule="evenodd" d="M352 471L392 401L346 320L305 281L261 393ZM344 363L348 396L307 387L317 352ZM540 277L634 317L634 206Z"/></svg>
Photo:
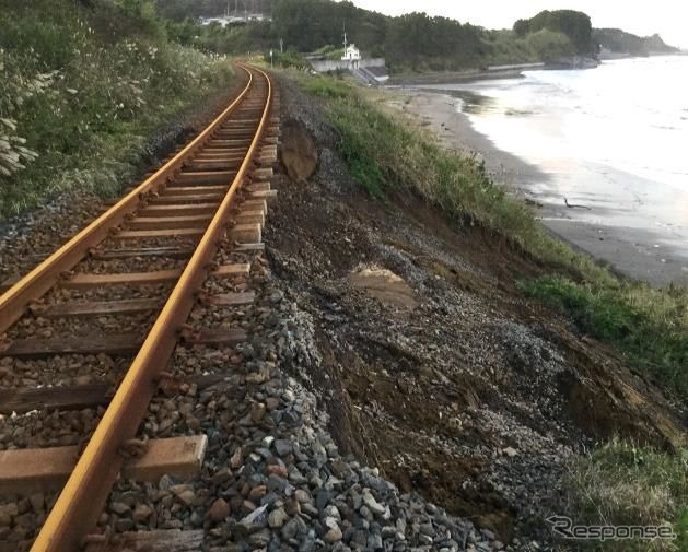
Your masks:
<svg viewBox="0 0 688 552"><path fill-rule="evenodd" d="M614 441L580 457L567 480L576 525L670 525L677 539L590 543L618 552L688 550L688 449L673 455Z"/></svg>

